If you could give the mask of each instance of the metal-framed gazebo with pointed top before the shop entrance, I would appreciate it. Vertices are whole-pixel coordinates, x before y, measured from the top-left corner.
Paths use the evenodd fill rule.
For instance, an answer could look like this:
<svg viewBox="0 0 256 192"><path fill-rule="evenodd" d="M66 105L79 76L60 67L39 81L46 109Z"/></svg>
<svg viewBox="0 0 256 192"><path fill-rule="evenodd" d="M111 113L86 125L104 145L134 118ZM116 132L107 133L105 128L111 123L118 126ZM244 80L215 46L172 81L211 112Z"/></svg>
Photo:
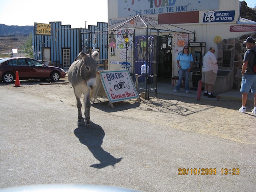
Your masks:
<svg viewBox="0 0 256 192"><path fill-rule="evenodd" d="M105 48L110 56L109 69L127 68L135 88L144 92L145 99L149 99L151 96L156 97L158 84L172 84L174 43L171 33L180 32L195 34L154 18L137 15L122 22L113 22L108 25L107 31L97 29L84 33L94 34L95 42L95 34L108 35Z"/></svg>

